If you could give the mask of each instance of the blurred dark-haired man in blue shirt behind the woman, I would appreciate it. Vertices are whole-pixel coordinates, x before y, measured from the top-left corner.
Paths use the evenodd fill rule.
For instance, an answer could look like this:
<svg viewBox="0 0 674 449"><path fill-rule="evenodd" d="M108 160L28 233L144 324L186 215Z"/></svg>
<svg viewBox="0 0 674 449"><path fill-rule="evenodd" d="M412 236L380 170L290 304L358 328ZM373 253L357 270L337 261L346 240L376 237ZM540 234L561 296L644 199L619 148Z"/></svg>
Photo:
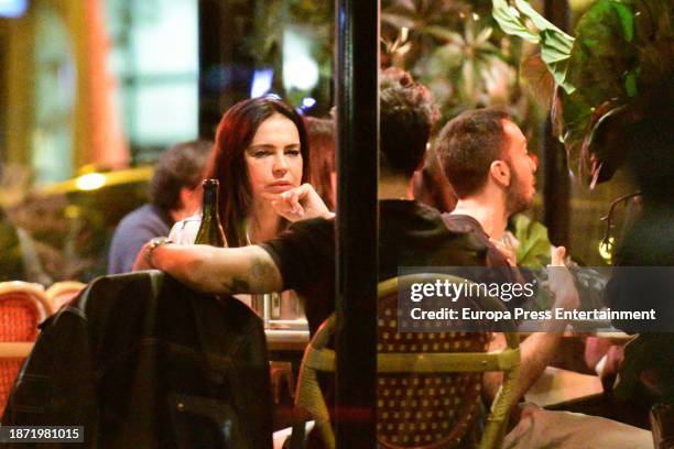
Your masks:
<svg viewBox="0 0 674 449"><path fill-rule="evenodd" d="M108 255L108 274L131 271L143 244L168 236L171 227L202 204L202 179L211 142L183 142L160 157L150 184L151 201L129 212L117 226Z"/></svg>

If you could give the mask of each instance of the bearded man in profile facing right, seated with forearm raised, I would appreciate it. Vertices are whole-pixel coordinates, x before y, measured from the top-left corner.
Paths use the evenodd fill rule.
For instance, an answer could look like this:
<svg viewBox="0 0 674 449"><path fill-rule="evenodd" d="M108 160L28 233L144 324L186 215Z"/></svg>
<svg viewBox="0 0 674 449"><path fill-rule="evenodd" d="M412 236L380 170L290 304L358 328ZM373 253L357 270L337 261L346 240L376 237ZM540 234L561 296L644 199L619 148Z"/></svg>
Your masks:
<svg viewBox="0 0 674 449"><path fill-rule="evenodd" d="M536 164L526 150L526 138L508 113L488 108L466 111L449 121L435 145L445 175L458 196L456 208L443 215L447 227L472 233L489 247L489 252L506 254L514 266L514 255L501 240L508 218L533 204ZM553 308L570 310L578 308L579 297L573 277L562 269L564 253L564 247L553 250L552 265L561 267L550 272L550 282L555 284L550 289L555 298ZM559 348L566 322L551 320L546 326L546 331L532 333L520 347L515 401L524 396ZM501 335L491 347L504 347ZM485 376L488 391L500 384L499 376L500 373ZM553 446L553 441L559 448L641 448L651 446L651 436L600 417L526 406L515 429L506 437L504 447L542 448Z"/></svg>

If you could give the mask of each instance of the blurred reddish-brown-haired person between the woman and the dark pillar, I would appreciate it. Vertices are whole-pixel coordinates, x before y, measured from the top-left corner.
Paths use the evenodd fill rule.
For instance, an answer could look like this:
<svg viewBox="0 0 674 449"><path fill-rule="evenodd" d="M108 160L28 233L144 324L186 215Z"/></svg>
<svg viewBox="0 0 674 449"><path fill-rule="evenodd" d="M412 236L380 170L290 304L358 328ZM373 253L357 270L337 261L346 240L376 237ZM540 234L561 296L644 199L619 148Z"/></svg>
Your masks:
<svg viewBox="0 0 674 449"><path fill-rule="evenodd" d="M329 210L337 205L337 175L335 171L335 121L306 118L309 147L312 149L312 185Z"/></svg>

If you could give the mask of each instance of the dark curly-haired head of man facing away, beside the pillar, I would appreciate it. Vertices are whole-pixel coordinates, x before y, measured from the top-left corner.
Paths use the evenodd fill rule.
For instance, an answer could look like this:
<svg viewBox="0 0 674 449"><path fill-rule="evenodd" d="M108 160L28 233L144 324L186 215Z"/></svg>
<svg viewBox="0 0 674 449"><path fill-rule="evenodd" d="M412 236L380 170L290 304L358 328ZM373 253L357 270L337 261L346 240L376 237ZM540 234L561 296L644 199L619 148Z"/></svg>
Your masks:
<svg viewBox="0 0 674 449"><path fill-rule="evenodd" d="M439 111L428 89L402 69L383 70L379 86L381 166L411 177L424 160Z"/></svg>

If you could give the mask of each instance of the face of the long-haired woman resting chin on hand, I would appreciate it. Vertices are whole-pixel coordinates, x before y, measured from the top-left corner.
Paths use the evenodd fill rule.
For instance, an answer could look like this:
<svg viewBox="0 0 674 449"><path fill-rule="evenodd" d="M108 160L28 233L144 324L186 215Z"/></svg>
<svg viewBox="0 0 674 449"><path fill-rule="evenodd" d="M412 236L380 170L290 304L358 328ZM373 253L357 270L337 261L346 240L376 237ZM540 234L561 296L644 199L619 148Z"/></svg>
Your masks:
<svg viewBox="0 0 674 449"><path fill-rule="evenodd" d="M273 199L302 183L300 132L285 116L264 120L246 149L246 166L253 198Z"/></svg>

